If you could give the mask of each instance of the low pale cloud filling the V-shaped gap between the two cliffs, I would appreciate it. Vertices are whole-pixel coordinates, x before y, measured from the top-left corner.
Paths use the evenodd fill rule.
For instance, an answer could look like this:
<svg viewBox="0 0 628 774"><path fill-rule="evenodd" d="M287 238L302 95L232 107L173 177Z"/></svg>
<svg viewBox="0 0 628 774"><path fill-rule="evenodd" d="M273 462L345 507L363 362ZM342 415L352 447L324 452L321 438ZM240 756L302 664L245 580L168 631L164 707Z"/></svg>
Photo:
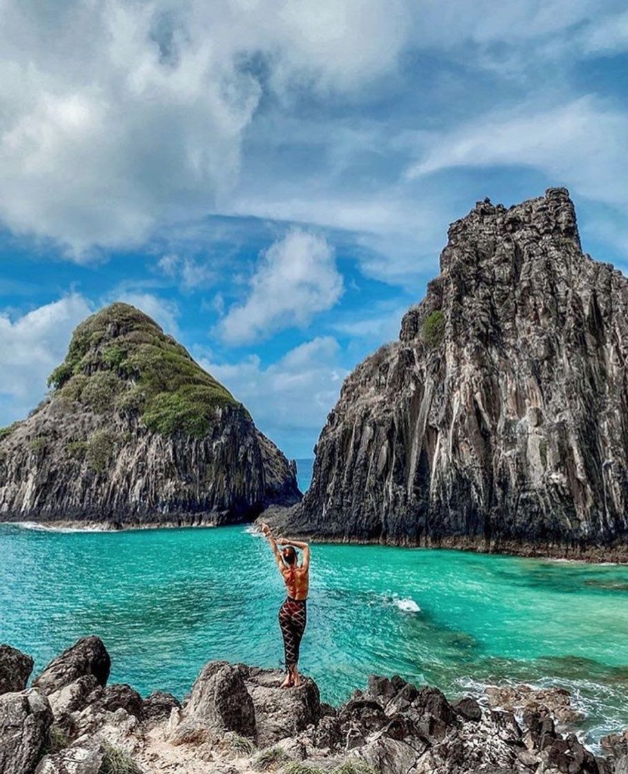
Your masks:
<svg viewBox="0 0 628 774"><path fill-rule="evenodd" d="M294 457L309 457L332 409L346 370L335 338L321 336L299 345L271 365L257 355L231 364L199 358L251 411L256 425Z"/></svg>

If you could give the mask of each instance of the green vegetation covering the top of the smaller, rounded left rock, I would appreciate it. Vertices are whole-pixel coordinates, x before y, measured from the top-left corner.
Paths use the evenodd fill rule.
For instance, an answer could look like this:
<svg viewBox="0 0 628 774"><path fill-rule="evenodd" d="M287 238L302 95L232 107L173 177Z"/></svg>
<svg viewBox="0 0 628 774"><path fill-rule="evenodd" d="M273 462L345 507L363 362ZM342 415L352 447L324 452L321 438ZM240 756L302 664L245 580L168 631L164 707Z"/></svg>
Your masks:
<svg viewBox="0 0 628 774"><path fill-rule="evenodd" d="M149 430L166 435L202 437L217 409L241 406L172 336L125 303L111 304L77 327L49 385L97 413L138 415Z"/></svg>

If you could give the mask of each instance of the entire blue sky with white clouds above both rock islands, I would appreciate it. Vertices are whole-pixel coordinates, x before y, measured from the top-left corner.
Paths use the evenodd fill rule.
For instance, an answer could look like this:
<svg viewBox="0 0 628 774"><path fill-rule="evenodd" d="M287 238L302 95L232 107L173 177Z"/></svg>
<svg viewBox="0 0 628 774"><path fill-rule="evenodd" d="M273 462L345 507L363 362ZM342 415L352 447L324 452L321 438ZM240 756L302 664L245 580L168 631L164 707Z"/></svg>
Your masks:
<svg viewBox="0 0 628 774"><path fill-rule="evenodd" d="M627 65L624 0L0 0L0 425L122 300L311 457L476 200L628 273Z"/></svg>

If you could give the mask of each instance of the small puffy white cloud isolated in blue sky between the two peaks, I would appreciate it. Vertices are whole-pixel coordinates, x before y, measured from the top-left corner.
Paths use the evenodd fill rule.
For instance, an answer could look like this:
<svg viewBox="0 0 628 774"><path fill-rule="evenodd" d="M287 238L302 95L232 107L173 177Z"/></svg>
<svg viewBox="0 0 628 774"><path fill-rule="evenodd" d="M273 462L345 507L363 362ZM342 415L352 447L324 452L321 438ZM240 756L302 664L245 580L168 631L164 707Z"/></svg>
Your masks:
<svg viewBox="0 0 628 774"><path fill-rule="evenodd" d="M230 307L218 330L228 342L252 341L308 324L342 293L333 248L325 238L293 228L261 255L247 300Z"/></svg>

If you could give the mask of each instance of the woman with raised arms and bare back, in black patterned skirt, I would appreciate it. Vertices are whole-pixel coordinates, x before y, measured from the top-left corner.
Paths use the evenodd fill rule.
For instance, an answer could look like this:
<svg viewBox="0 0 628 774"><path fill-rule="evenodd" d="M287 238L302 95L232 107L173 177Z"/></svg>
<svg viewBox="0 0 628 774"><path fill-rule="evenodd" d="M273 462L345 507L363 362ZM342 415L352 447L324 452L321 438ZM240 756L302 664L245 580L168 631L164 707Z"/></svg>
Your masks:
<svg viewBox="0 0 628 774"><path fill-rule="evenodd" d="M307 543L299 543L298 540L275 539L268 524L262 524L261 531L271 544L279 572L288 589L288 597L279 608L279 625L284 638L285 667L288 670L282 688L299 687L301 676L296 665L299 662L299 646L307 622L305 600L309 587L309 546ZM284 546L281 553L277 546ZM303 551L300 567L295 546Z"/></svg>

